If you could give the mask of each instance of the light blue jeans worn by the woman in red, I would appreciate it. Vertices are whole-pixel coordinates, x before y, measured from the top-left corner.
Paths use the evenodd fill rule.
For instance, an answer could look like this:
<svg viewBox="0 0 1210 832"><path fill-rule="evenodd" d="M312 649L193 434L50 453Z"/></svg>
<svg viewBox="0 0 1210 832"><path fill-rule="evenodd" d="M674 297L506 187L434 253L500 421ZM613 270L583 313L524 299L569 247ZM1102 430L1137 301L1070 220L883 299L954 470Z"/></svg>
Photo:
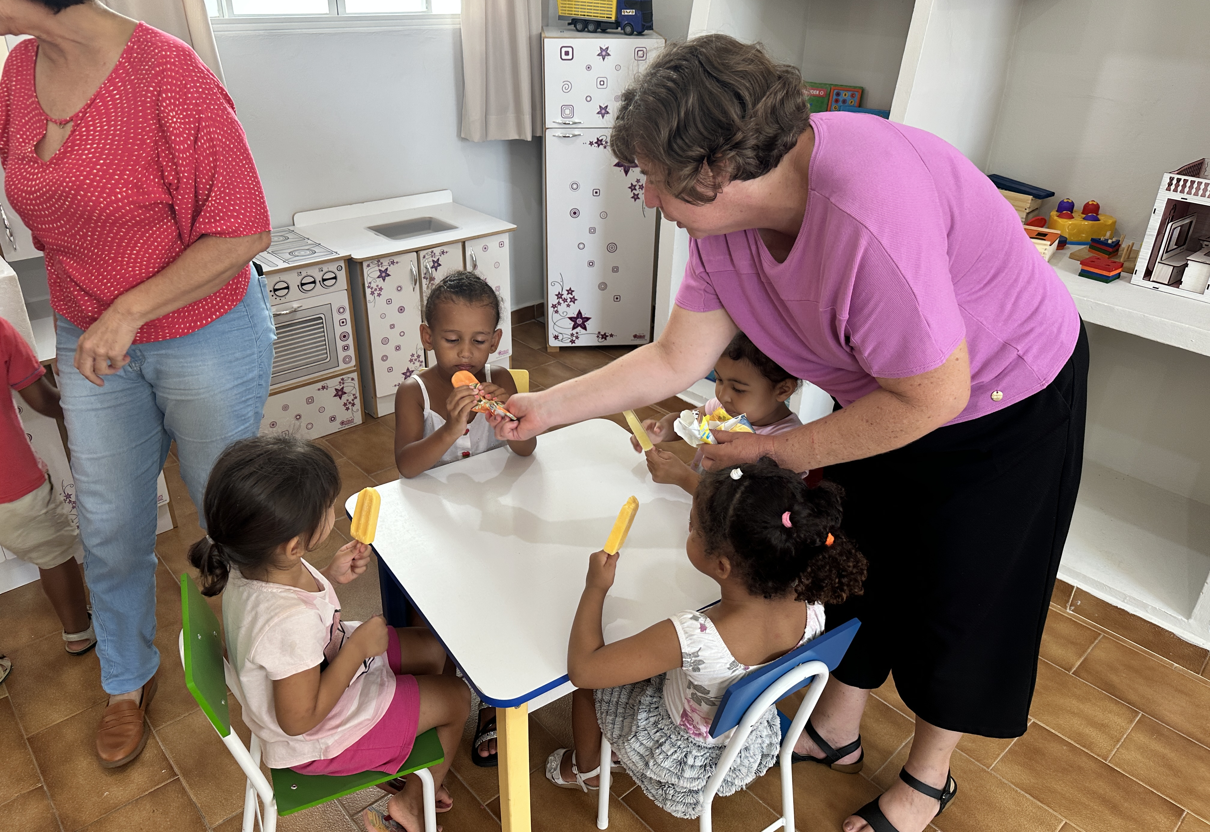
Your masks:
<svg viewBox="0 0 1210 832"><path fill-rule="evenodd" d="M180 476L198 507L211 466L255 435L269 395L273 322L255 272L240 304L195 333L132 345L97 387L71 365L83 333L58 318L59 389L75 478L85 579L106 693L155 675L156 478L177 440Z"/></svg>

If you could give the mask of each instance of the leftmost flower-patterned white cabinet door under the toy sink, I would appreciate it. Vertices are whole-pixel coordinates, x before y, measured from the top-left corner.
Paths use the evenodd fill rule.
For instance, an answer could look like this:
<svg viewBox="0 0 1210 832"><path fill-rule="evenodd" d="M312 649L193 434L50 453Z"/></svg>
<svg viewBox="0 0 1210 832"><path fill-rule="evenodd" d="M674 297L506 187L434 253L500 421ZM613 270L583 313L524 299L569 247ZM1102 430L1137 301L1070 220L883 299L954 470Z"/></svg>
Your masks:
<svg viewBox="0 0 1210 832"><path fill-rule="evenodd" d="M394 412L394 389L425 365L420 342L420 258L415 252L361 264L365 304L365 349L373 391L365 392L375 416Z"/></svg>

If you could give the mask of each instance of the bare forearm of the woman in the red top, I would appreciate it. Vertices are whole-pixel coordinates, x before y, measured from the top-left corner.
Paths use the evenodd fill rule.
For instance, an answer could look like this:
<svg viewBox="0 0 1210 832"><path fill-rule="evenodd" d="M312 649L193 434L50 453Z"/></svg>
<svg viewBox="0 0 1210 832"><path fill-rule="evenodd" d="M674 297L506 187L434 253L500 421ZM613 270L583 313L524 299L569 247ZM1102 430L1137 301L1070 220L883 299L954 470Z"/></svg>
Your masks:
<svg viewBox="0 0 1210 832"><path fill-rule="evenodd" d="M142 327L221 289L269 248L269 232L248 237L202 236L163 271L116 297L114 314Z"/></svg>

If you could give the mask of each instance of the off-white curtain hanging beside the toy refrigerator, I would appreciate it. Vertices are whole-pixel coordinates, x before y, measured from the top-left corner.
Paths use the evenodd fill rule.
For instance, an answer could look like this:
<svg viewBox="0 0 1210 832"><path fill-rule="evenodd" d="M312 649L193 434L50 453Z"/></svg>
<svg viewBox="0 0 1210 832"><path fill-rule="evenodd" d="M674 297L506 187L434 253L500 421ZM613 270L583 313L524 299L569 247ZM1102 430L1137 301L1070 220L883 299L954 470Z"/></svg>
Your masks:
<svg viewBox="0 0 1210 832"><path fill-rule="evenodd" d="M542 0L462 0L462 138L542 134Z"/></svg>

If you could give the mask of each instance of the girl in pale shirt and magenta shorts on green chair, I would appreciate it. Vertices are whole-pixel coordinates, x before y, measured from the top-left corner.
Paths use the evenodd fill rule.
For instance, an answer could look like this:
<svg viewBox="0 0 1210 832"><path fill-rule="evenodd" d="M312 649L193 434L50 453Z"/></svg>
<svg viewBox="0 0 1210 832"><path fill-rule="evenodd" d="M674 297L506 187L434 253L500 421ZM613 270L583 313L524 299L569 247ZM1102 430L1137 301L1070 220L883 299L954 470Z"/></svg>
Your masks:
<svg viewBox="0 0 1210 832"><path fill-rule="evenodd" d="M271 768L302 774L397 772L415 738L437 728L445 762L430 769L437 810L471 707L444 648L426 628L381 616L348 622L336 584L365 572L369 547L352 541L322 570L307 557L336 522L340 474L323 447L290 435L253 437L214 463L202 510L209 535L189 549L202 593L223 593L227 657L243 688L243 720ZM393 768L392 768L393 767ZM424 828L415 775L367 830ZM392 781L394 782L394 781Z"/></svg>

